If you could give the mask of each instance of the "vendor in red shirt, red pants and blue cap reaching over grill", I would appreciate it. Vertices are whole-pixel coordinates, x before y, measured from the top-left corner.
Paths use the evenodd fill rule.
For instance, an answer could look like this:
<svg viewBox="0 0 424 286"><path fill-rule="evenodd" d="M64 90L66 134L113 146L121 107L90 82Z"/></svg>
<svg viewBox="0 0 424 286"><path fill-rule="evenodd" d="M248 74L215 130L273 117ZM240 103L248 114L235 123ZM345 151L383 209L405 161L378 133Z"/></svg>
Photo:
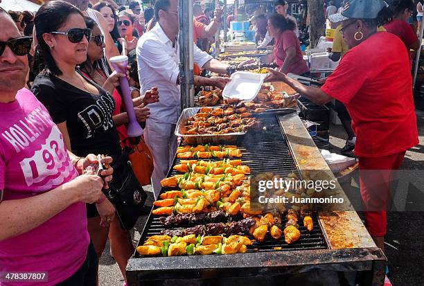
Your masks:
<svg viewBox="0 0 424 286"><path fill-rule="evenodd" d="M382 0L349 0L341 14L330 16L333 22L342 21L341 33L350 50L320 89L271 69L267 76L269 81L287 83L313 102L325 104L335 98L346 105L357 136L355 155L366 228L383 250L389 176L400 168L406 150L418 143L407 50L395 35L377 33L386 9ZM364 170L374 171L368 176ZM376 182L381 186L375 188ZM369 211L378 206L378 211Z"/></svg>

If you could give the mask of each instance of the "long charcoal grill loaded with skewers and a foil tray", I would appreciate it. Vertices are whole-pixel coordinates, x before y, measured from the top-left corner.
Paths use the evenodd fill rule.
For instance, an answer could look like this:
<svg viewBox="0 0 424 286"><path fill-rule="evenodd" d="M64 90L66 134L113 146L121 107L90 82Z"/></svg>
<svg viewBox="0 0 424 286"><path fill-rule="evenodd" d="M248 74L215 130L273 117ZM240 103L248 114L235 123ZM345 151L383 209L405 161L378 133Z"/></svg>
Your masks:
<svg viewBox="0 0 424 286"><path fill-rule="evenodd" d="M297 96L273 87L253 100L182 111L181 144L128 262L127 285L383 285L385 255L292 108ZM270 174L335 181L327 195L343 204L256 208L255 181Z"/></svg>

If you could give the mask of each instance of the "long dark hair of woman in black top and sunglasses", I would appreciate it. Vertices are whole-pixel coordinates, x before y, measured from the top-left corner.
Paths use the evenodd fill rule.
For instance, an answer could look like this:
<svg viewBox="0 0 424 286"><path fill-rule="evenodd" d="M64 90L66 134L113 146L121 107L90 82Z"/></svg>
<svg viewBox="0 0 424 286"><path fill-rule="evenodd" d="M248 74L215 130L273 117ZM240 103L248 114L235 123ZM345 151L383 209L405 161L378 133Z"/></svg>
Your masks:
<svg viewBox="0 0 424 286"><path fill-rule="evenodd" d="M46 65L46 71L53 75L61 75L62 71L60 71L51 55L50 48L44 41L43 34L58 30L72 14L79 14L84 17L76 6L58 0L43 4L35 15L35 33L38 40L36 55L42 57L42 61Z"/></svg>

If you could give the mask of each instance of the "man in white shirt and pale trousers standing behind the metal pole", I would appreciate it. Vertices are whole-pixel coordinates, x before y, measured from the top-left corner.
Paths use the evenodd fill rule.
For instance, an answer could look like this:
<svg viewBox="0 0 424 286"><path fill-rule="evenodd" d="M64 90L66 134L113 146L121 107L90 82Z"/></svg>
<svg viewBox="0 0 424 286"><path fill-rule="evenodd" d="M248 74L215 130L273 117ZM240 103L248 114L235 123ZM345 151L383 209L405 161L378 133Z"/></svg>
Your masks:
<svg viewBox="0 0 424 286"><path fill-rule="evenodd" d="M158 87L160 100L150 108L150 118L144 131L145 142L152 151L154 170L152 186L154 197L161 190L160 180L166 177L177 150L174 134L179 116L179 46L177 0L158 0L154 4L154 15L158 22L145 33L137 44L137 64L141 92ZM210 71L227 73L227 64L213 59L211 55L194 46L194 62ZM228 82L224 78L202 78L195 76L195 85L223 88Z"/></svg>

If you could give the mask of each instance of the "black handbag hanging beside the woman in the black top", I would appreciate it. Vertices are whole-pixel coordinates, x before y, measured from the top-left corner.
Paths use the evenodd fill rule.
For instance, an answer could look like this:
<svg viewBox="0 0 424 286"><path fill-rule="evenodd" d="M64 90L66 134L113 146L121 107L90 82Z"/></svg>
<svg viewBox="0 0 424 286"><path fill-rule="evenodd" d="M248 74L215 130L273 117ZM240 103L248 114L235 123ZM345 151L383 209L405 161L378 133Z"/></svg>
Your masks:
<svg viewBox="0 0 424 286"><path fill-rule="evenodd" d="M109 189L104 190L107 199L114 205L116 217L123 229L130 230L134 227L143 210L147 194L139 184L132 172L131 162L128 156L133 151L124 148L113 164L114 174L109 182Z"/></svg>

